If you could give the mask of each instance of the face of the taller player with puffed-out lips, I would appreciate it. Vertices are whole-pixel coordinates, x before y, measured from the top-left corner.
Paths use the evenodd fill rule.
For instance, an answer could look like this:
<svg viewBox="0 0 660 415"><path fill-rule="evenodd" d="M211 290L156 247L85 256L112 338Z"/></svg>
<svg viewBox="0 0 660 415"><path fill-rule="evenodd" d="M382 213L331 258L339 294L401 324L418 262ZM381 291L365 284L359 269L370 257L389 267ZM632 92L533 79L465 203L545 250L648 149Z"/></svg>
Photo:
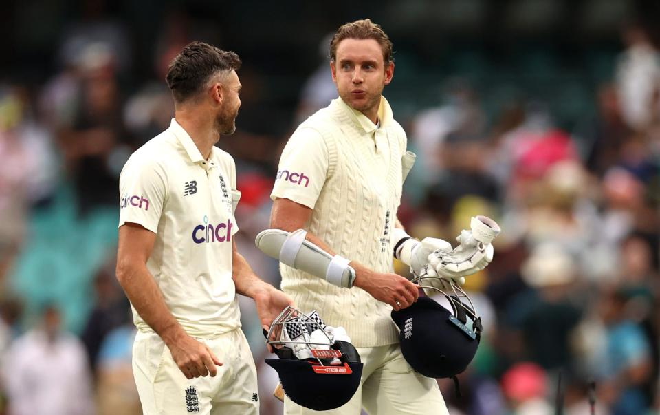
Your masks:
<svg viewBox="0 0 660 415"><path fill-rule="evenodd" d="M380 44L374 39L344 39L330 67L342 100L366 116L375 116L383 89L394 75L394 63L385 65Z"/></svg>

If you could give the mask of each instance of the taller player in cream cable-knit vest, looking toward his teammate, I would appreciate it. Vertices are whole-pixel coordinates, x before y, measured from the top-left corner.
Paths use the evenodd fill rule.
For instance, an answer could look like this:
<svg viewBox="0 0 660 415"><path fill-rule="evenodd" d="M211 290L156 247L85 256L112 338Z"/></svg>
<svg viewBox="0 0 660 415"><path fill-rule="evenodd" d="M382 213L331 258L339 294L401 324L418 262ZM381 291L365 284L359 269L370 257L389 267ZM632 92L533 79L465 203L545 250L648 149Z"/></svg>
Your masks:
<svg viewBox="0 0 660 415"><path fill-rule="evenodd" d="M446 414L437 382L410 368L390 313L418 289L393 273L393 233L401 200L406 134L387 100L392 43L369 19L347 23L330 45L340 98L296 129L279 164L271 227L304 228L307 240L355 269L353 288L281 264L282 288L305 311L347 329L364 369L351 401L329 414ZM314 411L285 398L285 413ZM324 412L325 413L325 412Z"/></svg>

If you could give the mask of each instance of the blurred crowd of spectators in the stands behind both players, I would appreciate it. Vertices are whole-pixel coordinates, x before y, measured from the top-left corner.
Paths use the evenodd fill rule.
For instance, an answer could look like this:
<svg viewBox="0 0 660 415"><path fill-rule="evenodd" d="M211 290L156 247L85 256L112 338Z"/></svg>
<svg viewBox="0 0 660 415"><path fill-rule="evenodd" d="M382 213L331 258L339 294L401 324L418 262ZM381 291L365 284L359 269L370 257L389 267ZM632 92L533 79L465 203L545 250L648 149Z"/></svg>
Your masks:
<svg viewBox="0 0 660 415"><path fill-rule="evenodd" d="M168 127L164 71L195 34L168 21L153 70L136 77L126 28L81 19L53 54L57 72L38 85L0 82L0 414L140 413L135 331L114 275L118 175ZM660 51L639 25L622 40L615 70L593 91L595 114L573 129L542 96L487 114L461 78L438 79L436 105L399 118L418 155L399 209L408 232L453 241L474 215L503 228L492 264L465 284L485 332L460 376L462 398L439 380L452 415L554 414L555 405L588 414L590 400L599 415L660 413ZM239 76L247 111L219 143L236 158L243 193L236 240L278 286L276 261L253 243L268 227L276 162L336 89L325 62L300 79L288 126L273 133L246 128L260 122L263 85L249 68ZM241 312L262 413L281 413L252 301L241 298Z"/></svg>

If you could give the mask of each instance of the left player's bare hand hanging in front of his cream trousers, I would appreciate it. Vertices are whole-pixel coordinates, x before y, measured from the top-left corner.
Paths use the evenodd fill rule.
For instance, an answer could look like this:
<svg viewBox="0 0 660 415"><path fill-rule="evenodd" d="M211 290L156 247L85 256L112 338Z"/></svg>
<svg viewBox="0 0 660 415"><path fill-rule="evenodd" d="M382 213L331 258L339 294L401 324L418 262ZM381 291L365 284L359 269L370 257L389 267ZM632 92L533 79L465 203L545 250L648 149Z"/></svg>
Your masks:
<svg viewBox="0 0 660 415"><path fill-rule="evenodd" d="M206 344L193 339L185 332L181 332L175 339L167 341L166 345L170 349L172 359L188 379L209 374L215 376L218 373L216 365L222 365L220 359Z"/></svg>

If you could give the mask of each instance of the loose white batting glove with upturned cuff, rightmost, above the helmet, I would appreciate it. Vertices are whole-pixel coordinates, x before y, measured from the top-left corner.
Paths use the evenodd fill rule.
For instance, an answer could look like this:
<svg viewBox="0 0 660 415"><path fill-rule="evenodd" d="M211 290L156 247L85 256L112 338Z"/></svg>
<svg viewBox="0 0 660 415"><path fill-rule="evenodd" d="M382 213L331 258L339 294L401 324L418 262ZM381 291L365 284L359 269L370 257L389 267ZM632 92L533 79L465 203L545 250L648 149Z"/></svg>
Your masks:
<svg viewBox="0 0 660 415"><path fill-rule="evenodd" d="M470 230L461 231L456 240L459 246L450 253L435 251L428 262L441 276L458 282L461 277L483 270L493 260L491 244L500 233L500 226L485 216L472 217Z"/></svg>

